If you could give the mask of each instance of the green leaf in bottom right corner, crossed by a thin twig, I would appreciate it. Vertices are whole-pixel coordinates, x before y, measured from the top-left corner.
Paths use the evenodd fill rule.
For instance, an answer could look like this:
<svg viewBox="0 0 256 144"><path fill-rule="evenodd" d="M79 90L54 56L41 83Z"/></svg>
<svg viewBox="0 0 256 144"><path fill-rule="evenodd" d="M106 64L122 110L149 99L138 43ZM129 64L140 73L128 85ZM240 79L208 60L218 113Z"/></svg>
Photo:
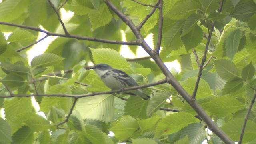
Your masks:
<svg viewBox="0 0 256 144"><path fill-rule="evenodd" d="M222 126L222 130L232 140L238 141L240 138L243 123L244 123L244 118L228 120L224 124L224 126ZM256 124L251 120L247 120L242 143L246 143L254 140L255 136L256 136Z"/></svg>

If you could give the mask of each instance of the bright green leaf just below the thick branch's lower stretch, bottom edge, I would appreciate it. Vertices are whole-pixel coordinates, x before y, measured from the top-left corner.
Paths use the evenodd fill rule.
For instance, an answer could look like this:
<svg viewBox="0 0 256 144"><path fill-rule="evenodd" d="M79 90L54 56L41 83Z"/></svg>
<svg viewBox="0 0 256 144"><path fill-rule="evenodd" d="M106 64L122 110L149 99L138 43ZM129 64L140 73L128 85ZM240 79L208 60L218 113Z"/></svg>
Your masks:
<svg viewBox="0 0 256 144"><path fill-rule="evenodd" d="M168 135L178 132L188 124L199 122L192 114L186 112L178 112L166 116L156 126L156 136Z"/></svg>

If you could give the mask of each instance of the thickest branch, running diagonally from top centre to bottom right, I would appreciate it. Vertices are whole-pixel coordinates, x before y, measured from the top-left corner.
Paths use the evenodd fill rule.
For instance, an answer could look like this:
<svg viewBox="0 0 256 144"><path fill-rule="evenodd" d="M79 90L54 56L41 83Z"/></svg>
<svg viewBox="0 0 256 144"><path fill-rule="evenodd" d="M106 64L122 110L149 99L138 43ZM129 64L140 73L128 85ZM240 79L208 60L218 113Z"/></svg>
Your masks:
<svg viewBox="0 0 256 144"><path fill-rule="evenodd" d="M116 13L116 15L123 20L132 30L136 38L138 39L138 42L140 42L140 46L144 48L144 50L151 56L151 58L154 59L156 64L159 66L159 68L162 70L163 74L166 76L167 82L171 84L177 92L190 104L190 106L197 112L197 114L206 122L206 124L209 126L209 128L214 132L223 142L226 144L234 144L234 142L212 121L212 118L208 116L208 114L204 111L204 109L196 102L196 100L192 99L192 97L184 90L184 88L179 84L179 82L174 78L174 76L170 73L162 59L158 56L156 52L148 46L148 44L143 39L142 35L140 34L140 31L136 28L134 23L132 23L132 20L127 18L118 8L110 2L110 0L104 1L106 5L113 10L113 12ZM222 1L223 3L223 1ZM222 5L222 4L221 4Z"/></svg>

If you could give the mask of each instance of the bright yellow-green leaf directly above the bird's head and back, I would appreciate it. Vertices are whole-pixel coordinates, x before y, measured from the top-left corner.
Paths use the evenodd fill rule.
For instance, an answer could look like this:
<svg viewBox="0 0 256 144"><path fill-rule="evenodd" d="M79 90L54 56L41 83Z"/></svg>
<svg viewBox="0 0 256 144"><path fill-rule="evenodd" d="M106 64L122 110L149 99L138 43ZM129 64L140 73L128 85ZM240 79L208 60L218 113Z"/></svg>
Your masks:
<svg viewBox="0 0 256 144"><path fill-rule="evenodd" d="M129 67L126 59L119 52L110 48L90 49L92 51L93 60L96 64L105 63L115 68Z"/></svg>

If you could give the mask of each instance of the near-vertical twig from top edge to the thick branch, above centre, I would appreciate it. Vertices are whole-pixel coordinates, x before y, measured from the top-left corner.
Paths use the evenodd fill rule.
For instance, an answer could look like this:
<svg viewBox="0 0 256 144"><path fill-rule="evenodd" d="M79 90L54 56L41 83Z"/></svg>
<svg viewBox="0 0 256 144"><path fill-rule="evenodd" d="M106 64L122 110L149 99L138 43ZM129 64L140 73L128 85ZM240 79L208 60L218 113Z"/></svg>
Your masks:
<svg viewBox="0 0 256 144"><path fill-rule="evenodd" d="M155 52L159 54L161 42L162 42L162 31L163 31L163 0L159 0L159 26L158 26L158 39L156 42Z"/></svg>

